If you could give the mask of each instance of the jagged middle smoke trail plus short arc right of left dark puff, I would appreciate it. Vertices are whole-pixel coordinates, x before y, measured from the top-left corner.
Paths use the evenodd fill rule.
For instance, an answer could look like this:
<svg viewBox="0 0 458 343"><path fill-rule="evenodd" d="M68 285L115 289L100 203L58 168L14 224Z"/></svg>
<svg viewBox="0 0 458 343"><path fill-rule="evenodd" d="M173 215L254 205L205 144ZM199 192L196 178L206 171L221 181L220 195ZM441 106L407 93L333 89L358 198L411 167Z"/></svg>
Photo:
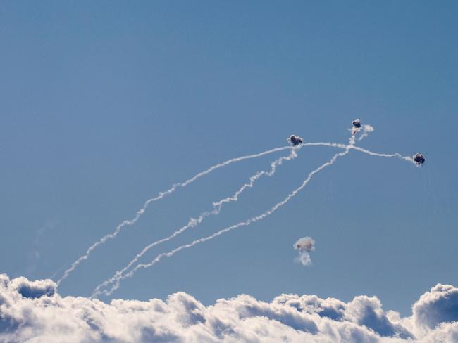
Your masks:
<svg viewBox="0 0 458 343"><path fill-rule="evenodd" d="M324 146L333 146L333 147L334 146L338 146L338 144L335 144L335 143L319 142L319 143L304 143L302 145L297 145L295 147L292 147L290 155L288 155L287 157L280 157L277 160L271 162L271 170L270 171L258 171L256 174L254 174L253 176L251 176L249 178L249 183L245 183L239 190L237 190L237 192L234 193L234 195L232 195L232 196L230 196L228 198L224 198L223 200L220 200L218 202L213 202L213 210L212 211L210 211L210 212L209 211L202 212L201 214L199 214L197 219L191 218L190 221L188 221L185 226L182 226L180 229L178 229L177 231L175 231L174 233L172 233L168 237L162 238L160 240L156 240L155 242L152 242L151 244L149 244L146 247L144 247L143 250L139 254L137 254L135 256L135 258L132 259L132 261L130 261L127 266L125 266L120 271L116 271L116 273L114 273L114 275L111 278L109 278L108 280L104 281L103 283L100 283L99 285L97 285L97 287L94 289L93 295L100 294L100 290L101 290L102 287L105 287L106 285L109 285L109 284L115 282L118 278L120 278L120 276L122 276L123 273L125 273L125 271L128 271L128 269L131 266L133 266L140 259L140 257L142 257L152 247L154 247L156 245L159 245L159 244L161 244L163 242L166 242L168 240L171 240L172 238L175 238L176 236L178 236L181 233L185 232L188 228L194 228L195 226L197 226L200 223L202 223L204 218L206 218L207 216L219 214L221 212L221 207L223 206L223 204L225 202L237 201L239 195L242 194L243 191L246 190L247 188L252 188L254 186L254 182L256 180L258 180L259 178L261 178L261 176L264 176L264 175L273 176L276 173L276 168L278 166L280 166L283 163L283 161L290 161L290 160L295 159L297 157L296 150L299 150L300 148L303 148L304 146L309 146L309 145L315 145L315 146L316 145L324 145ZM345 145L342 145L342 147L345 148Z"/></svg>

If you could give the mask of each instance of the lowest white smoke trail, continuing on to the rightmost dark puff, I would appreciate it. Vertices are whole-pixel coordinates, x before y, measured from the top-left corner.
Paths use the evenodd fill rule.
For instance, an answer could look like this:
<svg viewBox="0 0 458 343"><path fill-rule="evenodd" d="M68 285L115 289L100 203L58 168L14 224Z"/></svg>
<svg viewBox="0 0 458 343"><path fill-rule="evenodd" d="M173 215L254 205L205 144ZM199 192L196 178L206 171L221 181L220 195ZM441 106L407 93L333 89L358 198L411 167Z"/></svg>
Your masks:
<svg viewBox="0 0 458 343"><path fill-rule="evenodd" d="M337 145L334 145L334 146L337 146ZM124 280L125 278L131 278L132 276L134 276L136 271L138 269L140 269L140 268L149 268L151 266L154 266L154 264L157 264L163 257L171 257L174 254L176 254L177 252L179 252L180 250L184 250L184 249L187 249L189 247L193 247L194 245L198 245L198 244L200 244L202 242L206 242L207 240L212 240L213 238L216 238L219 235L223 235L223 233L227 233L229 231L233 231L236 228L240 228L241 226L249 226L250 224L253 224L256 221L260 221L261 219L264 219L267 216L270 216L271 214L273 214L273 212L276 212L277 209L279 209L280 207L285 205L287 202L289 202L292 198L294 198L295 195L297 195L297 193L299 193L300 190L302 190L305 186L307 186L307 183L309 183L309 181L311 180L311 178L315 174L317 174L322 169L324 169L324 168L330 166L331 164L333 164L335 162L335 160L338 159L338 157L342 157L342 156L347 155L347 153L349 153L349 150L351 150L351 149L358 150L358 151L361 151L362 153L367 153L367 154L373 155L373 156L399 157L399 158L401 158L403 160L407 160L409 162L414 163L414 161L411 159L411 157L405 157L405 156L400 155L399 153L394 153L394 154L373 153L373 152L371 152L369 150L366 150L366 149L363 149L363 148L359 148L359 147L355 147L351 143L349 145L344 145L344 146L345 146L345 151L343 151L342 153L335 154L328 162L326 162L324 164L321 164L320 167L316 168L314 171L311 171L309 173L309 175L307 176L307 179L305 179L298 188L296 188L289 195L287 195L287 197L284 200L282 200L281 202L278 202L276 205L273 205L273 207L271 207L271 209L268 209L268 211L264 212L263 214L259 214L258 216L253 216L252 218L248 219L247 221L240 221L239 223L237 223L237 224L235 224L233 226L229 226L228 228L223 228L220 231L218 231L216 233L213 233L213 235L209 235L209 236L206 236L204 238L199 238L198 240L194 240L193 242L191 242L189 244L186 244L186 245L181 245L180 247L177 247L174 250L171 250L169 252L163 252L163 253L157 255L156 258L154 258L148 264L137 264L137 266L135 266L135 268L133 268L129 273L126 273L125 275L120 276L120 278L118 278L116 280L116 284L113 285L113 287L111 287L111 290L104 291L103 293L105 295L111 295L120 286L120 280ZM100 292L98 292L97 294L100 294ZM95 297L97 294L93 293L92 297Z"/></svg>

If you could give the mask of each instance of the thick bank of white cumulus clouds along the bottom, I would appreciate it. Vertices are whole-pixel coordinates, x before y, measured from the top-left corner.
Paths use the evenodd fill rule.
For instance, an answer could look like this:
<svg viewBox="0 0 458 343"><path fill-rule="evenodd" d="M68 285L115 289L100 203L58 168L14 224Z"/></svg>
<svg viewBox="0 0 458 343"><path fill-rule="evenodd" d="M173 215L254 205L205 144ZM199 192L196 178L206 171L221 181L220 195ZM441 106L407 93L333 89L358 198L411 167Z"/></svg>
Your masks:
<svg viewBox="0 0 458 343"><path fill-rule="evenodd" d="M204 306L184 292L165 301L61 297L52 280L0 274L0 342L458 342L458 288L436 285L410 317L377 297L249 295Z"/></svg>

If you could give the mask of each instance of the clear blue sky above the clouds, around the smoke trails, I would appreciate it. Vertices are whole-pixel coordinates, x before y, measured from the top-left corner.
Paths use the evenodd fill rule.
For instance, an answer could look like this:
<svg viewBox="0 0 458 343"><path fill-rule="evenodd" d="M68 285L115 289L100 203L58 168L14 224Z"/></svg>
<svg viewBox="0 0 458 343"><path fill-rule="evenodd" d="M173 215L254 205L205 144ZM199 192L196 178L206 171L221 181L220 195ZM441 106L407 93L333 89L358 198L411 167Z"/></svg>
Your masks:
<svg viewBox="0 0 458 343"><path fill-rule="evenodd" d="M365 294L409 314L436 283L458 284L457 15L456 1L0 1L0 272L58 278L172 183L293 133L346 143L359 117L376 129L361 146L421 152L426 165L352 152L273 216L140 271L113 297ZM264 212L333 153L302 149L144 261ZM151 205L59 292L89 295L273 158ZM292 245L307 235L303 267Z"/></svg>

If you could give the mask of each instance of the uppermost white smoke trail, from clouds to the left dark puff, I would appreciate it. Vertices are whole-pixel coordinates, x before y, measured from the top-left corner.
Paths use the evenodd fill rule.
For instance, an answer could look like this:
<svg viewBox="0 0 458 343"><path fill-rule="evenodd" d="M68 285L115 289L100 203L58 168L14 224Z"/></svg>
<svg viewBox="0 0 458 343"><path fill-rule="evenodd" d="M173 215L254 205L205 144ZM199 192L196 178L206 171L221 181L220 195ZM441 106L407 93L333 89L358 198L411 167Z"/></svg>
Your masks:
<svg viewBox="0 0 458 343"><path fill-rule="evenodd" d="M318 144L317 144L318 145ZM85 254L83 254L81 257L79 257L78 259L76 259L73 264L71 264L70 268L66 269L66 271L64 271L63 273L63 276L57 281L57 286L61 284L61 282L63 280L65 280L68 275L70 275L70 273L72 271L75 270L75 268L78 267L78 265L84 261L85 259L87 259L89 257L89 255L92 253L92 251L98 247L99 245L102 245L104 244L107 240L110 240L112 238L115 238L118 233L121 231L121 228L123 228L124 226L126 225L133 225L135 224L138 219L140 219L140 216L142 216L142 214L144 214L144 212L146 211L148 205L151 203L151 202L155 202L157 200L161 200L162 198L164 198L166 195L169 195L173 192L175 192L175 190L178 188L178 187L185 187L187 185L189 185L190 183L196 181L197 179L201 178L202 176L205 176L209 173L211 173L211 171L214 171L215 169L218 169L218 168L221 168L221 167L225 167L227 166L228 164L232 164L232 163L235 163L235 162L241 162L243 160L249 160L249 159L252 159L252 158L256 158L256 157L261 157L261 156L265 156L265 155L269 155L271 153L277 153L278 151L283 151L283 150L288 150L288 149L292 149L292 147L290 146L283 146L283 147L280 147L280 148L273 148L271 150L266 150L266 151L263 151L262 153L257 153L257 154L254 154L254 155L245 155L245 156L242 156L242 157L235 157L235 158L232 158L230 160L227 160L225 162L221 162L221 163L218 163L218 164L215 164L211 167L209 167L209 169L206 169L204 171L201 171L199 174L196 174L194 176L192 176L191 179L187 179L186 181L183 181L183 182L180 182L180 183L174 183L173 186L171 188L168 188L168 190L164 191L164 192L159 192L159 195L157 195L156 197L154 198L151 198L151 199L148 199L147 201L144 202L142 208L140 208L138 211L137 211L137 214L130 220L125 220L125 221L122 221L120 224L118 224L118 226L116 226L115 230L112 232L112 233L109 233L107 235L104 235L104 237L100 238L100 240L98 240L97 242L95 242L93 245L91 245L85 252Z"/></svg>

